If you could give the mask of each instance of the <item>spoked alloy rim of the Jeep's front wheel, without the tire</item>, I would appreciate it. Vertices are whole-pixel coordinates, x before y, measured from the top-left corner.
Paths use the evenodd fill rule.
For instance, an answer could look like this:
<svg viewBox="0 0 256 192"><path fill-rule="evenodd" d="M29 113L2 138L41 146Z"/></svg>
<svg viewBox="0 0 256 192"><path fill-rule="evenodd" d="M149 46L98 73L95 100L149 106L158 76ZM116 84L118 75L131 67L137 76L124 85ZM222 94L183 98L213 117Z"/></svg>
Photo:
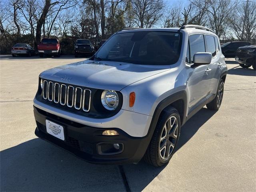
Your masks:
<svg viewBox="0 0 256 192"><path fill-rule="evenodd" d="M166 160L171 156L177 141L178 129L178 119L175 116L171 116L164 124L160 136L159 152L162 160Z"/></svg>

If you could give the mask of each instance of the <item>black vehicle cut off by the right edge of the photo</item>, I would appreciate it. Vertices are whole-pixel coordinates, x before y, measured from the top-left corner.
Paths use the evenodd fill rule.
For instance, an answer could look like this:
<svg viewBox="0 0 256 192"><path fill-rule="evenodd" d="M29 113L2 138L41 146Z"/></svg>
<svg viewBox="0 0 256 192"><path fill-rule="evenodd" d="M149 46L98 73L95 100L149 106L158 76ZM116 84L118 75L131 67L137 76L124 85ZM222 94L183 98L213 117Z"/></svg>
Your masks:
<svg viewBox="0 0 256 192"><path fill-rule="evenodd" d="M239 47L236 51L236 61L242 68L252 66L256 70L256 45Z"/></svg>

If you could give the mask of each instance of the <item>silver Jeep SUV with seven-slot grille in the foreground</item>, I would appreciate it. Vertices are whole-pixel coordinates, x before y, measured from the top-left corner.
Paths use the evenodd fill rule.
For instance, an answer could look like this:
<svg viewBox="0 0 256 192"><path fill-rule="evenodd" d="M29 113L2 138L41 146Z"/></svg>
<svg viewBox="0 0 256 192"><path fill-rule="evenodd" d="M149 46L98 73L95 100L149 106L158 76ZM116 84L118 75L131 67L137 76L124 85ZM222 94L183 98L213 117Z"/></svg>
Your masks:
<svg viewBox="0 0 256 192"><path fill-rule="evenodd" d="M35 134L88 162L163 166L182 125L220 108L226 74L208 28L126 28L92 58L40 74Z"/></svg>

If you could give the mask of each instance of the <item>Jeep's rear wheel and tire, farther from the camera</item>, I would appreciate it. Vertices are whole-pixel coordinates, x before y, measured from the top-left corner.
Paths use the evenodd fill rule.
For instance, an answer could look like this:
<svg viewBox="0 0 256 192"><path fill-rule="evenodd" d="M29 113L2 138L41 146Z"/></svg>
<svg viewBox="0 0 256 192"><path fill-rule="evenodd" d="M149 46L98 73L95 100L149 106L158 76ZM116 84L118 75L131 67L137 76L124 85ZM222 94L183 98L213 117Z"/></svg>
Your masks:
<svg viewBox="0 0 256 192"><path fill-rule="evenodd" d="M218 86L217 94L214 100L206 104L206 107L210 110L218 110L222 103L223 93L224 93L224 81L221 79Z"/></svg>

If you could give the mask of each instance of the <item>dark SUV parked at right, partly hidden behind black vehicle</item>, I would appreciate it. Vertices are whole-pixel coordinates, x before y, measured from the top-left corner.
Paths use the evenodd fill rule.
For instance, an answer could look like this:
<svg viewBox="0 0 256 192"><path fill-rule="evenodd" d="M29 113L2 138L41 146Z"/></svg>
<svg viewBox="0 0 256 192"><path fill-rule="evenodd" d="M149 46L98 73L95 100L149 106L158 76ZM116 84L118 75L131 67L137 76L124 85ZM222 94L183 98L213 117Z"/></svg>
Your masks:
<svg viewBox="0 0 256 192"><path fill-rule="evenodd" d="M242 47L246 45L250 45L250 42L245 42L245 41L227 42L221 46L221 50L223 55L226 58L234 58L236 56L236 50L238 49L238 47Z"/></svg>

